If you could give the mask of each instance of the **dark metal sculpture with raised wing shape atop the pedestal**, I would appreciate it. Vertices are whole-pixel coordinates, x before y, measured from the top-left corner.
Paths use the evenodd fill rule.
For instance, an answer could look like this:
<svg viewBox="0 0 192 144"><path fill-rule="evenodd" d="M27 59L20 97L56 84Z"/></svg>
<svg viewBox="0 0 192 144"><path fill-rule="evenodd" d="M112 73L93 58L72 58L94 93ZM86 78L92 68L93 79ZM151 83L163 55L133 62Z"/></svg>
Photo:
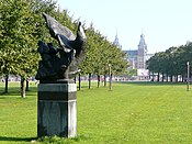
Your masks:
<svg viewBox="0 0 192 144"><path fill-rule="evenodd" d="M56 38L61 48L55 48L52 43L38 42L38 53L42 60L38 64L36 79L57 80L71 79L79 73L78 66L84 54L86 34L79 22L77 36L50 15L43 13L52 37Z"/></svg>

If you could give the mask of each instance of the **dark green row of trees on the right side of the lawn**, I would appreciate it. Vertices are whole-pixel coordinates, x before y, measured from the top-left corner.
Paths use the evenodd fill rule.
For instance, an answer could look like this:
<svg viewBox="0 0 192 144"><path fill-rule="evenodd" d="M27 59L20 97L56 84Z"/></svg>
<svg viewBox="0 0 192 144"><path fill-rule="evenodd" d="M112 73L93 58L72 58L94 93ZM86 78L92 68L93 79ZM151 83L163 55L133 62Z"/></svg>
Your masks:
<svg viewBox="0 0 192 144"><path fill-rule="evenodd" d="M154 76L157 74L157 81L160 81L160 76L161 81L178 81L178 76L184 81L188 62L192 64L192 43L178 47L173 46L166 52L156 53L148 59L147 65L153 79L155 79Z"/></svg>

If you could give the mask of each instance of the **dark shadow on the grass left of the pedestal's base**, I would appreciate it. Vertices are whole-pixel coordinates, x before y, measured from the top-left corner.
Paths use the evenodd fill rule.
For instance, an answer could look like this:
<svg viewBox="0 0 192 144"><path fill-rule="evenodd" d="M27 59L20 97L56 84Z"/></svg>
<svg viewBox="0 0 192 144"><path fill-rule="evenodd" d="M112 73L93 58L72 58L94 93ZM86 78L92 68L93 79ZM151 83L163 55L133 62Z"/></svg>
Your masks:
<svg viewBox="0 0 192 144"><path fill-rule="evenodd" d="M1 141L14 141L14 142L31 142L32 140L37 140L36 137L9 137L9 136L0 136L0 143Z"/></svg>

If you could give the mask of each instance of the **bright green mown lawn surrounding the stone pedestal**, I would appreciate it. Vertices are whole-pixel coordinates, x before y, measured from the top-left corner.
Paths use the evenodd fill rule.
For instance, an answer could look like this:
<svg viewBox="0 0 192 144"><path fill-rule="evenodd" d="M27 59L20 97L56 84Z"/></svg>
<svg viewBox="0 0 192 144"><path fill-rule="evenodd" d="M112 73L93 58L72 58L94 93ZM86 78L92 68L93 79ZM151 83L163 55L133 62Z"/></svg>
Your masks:
<svg viewBox="0 0 192 144"><path fill-rule="evenodd" d="M36 143L190 144L192 91L183 84L118 82L77 92L78 135ZM3 95L0 84L0 143L36 140L36 86L20 98L19 84Z"/></svg>

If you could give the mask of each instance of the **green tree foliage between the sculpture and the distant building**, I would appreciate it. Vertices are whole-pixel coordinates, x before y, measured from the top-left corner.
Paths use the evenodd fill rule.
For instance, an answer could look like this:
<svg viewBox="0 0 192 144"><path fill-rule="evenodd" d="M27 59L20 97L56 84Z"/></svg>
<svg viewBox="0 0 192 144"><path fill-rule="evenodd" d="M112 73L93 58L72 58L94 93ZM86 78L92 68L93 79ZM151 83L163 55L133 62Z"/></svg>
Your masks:
<svg viewBox="0 0 192 144"><path fill-rule="evenodd" d="M121 74L127 68L125 54L106 37L94 30L93 24L86 31L87 55L81 65L84 74L105 75L109 71L109 64L112 65L113 74Z"/></svg>

